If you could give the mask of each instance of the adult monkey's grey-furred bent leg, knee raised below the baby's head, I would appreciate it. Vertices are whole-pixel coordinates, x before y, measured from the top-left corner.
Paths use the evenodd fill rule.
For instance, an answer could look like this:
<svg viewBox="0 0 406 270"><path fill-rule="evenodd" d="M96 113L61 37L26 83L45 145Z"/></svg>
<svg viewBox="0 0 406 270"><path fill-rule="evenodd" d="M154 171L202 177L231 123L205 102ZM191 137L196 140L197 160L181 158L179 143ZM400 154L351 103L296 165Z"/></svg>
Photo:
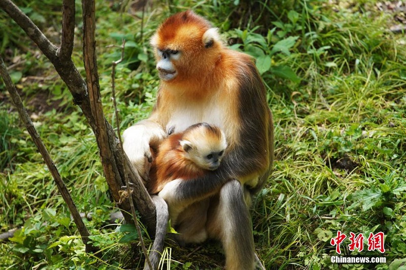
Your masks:
<svg viewBox="0 0 406 270"><path fill-rule="evenodd" d="M211 208L208 230L221 240L226 256L226 269L254 269L255 250L249 209L244 200L244 187L237 180L223 185L219 203Z"/></svg>

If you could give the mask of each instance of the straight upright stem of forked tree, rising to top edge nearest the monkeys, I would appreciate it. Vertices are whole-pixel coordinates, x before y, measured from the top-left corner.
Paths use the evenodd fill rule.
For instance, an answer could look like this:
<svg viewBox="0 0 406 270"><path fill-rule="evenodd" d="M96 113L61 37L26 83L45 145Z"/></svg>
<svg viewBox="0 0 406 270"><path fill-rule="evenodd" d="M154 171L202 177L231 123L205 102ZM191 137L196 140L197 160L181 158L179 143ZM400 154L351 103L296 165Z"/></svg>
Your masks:
<svg viewBox="0 0 406 270"><path fill-rule="evenodd" d="M155 228L156 222L156 209L151 197L146 191L144 184L141 181L141 177L134 172L125 155L121 154L121 144L111 141L117 138L110 124L107 123L104 114L103 106L101 105L100 87L98 84L98 74L96 66L95 55L95 18L94 18L94 2L82 1L83 10L83 52L84 63L87 78L87 88L89 93L90 108L96 128L93 132L97 138L97 143L100 149L101 164L103 165L106 180L109 183L110 190L116 202L121 202L119 191L121 186L124 185L122 179L124 178L124 164L129 171L129 177L133 180L133 192L132 200L136 202L137 209L142 214L143 221L146 221L146 226L150 232L154 234L153 228ZM117 145L118 144L118 145ZM112 145L116 145L115 149L110 148ZM113 152L116 150L115 152ZM117 158L117 160L114 158ZM121 158L121 159L120 159ZM125 163L124 163L125 162ZM119 167L117 170L117 166ZM117 179L117 176L121 178ZM119 183L119 185L117 184ZM118 196L118 197L117 197ZM129 209L128 209L129 210ZM129 221L126 218L127 221Z"/></svg>

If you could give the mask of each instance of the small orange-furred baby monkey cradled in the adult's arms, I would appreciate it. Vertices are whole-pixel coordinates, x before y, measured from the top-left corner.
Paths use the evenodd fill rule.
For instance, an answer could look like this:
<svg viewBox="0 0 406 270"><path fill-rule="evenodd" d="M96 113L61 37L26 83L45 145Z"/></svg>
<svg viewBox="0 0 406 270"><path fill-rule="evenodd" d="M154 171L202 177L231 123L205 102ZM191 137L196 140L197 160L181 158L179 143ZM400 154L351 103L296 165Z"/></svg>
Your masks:
<svg viewBox="0 0 406 270"><path fill-rule="evenodd" d="M147 183L149 193L157 194L172 180L193 179L216 170L226 147L224 133L207 123L194 124L183 132L171 134L157 149Z"/></svg>

